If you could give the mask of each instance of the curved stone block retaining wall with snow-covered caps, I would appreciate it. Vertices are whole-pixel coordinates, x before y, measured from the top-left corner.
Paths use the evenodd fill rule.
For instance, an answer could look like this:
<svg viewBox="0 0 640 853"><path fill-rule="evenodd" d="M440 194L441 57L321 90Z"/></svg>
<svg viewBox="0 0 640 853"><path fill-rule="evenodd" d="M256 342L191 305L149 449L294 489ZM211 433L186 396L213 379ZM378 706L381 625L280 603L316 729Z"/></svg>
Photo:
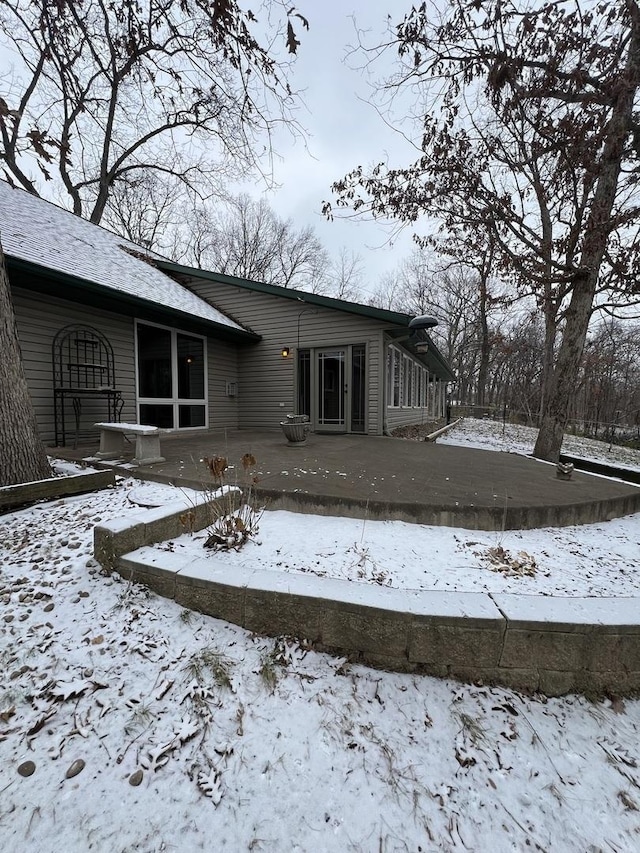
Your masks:
<svg viewBox="0 0 640 853"><path fill-rule="evenodd" d="M206 505L180 502L96 527L96 559L183 607L371 666L551 696L640 691L638 598L397 590L148 547L183 533L187 512L208 523Z"/></svg>

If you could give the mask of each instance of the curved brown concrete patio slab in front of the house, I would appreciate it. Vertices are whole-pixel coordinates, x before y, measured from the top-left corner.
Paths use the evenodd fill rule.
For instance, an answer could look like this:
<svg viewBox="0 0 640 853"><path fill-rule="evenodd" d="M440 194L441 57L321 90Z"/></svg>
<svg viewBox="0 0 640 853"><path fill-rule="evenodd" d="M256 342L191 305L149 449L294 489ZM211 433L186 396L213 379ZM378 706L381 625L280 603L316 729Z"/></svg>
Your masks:
<svg viewBox="0 0 640 853"><path fill-rule="evenodd" d="M95 448L97 450L97 448ZM55 448L66 458L92 456ZM500 530L605 521L640 511L640 486L574 472L526 456L378 436L316 435L292 447L281 432L211 431L162 437L165 462L108 463L119 473L202 489L214 485L203 462L225 456L227 482L242 485L240 460L256 460L255 488L270 509L355 518L398 519ZM133 455L133 447L131 447Z"/></svg>

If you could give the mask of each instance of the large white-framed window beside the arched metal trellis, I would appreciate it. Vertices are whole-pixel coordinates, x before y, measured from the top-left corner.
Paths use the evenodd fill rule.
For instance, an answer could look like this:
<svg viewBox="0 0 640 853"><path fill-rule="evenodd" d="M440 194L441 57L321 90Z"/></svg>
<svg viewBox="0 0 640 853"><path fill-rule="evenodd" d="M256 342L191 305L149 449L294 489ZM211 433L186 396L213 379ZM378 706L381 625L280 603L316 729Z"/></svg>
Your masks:
<svg viewBox="0 0 640 853"><path fill-rule="evenodd" d="M207 425L206 340L136 324L138 420L162 429Z"/></svg>

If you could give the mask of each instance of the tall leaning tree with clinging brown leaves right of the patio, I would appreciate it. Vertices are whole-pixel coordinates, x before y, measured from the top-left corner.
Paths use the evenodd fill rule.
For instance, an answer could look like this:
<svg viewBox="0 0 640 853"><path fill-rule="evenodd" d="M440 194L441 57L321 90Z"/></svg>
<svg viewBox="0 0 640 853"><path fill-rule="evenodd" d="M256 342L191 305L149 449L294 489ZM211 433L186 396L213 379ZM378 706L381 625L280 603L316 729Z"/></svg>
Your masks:
<svg viewBox="0 0 640 853"><path fill-rule="evenodd" d="M452 0L444 20L424 3L388 47L401 66L384 91L418 93L422 154L355 170L334 185L338 206L462 230L484 221L498 269L547 321L535 454L555 460L599 290L637 293L638 2Z"/></svg>

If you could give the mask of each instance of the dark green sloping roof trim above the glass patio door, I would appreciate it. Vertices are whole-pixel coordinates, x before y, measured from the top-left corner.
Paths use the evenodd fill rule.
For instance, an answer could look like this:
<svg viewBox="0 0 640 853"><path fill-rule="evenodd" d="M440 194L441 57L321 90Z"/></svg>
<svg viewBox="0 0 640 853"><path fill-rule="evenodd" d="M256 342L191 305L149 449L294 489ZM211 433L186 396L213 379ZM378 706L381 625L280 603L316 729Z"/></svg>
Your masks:
<svg viewBox="0 0 640 853"><path fill-rule="evenodd" d="M253 290L256 293L268 293L271 296L280 296L282 299L295 299L308 305L319 305L322 308L332 308L334 311L344 311L347 314L358 314L360 317L368 317L370 320L381 320L383 323L393 323L398 326L407 327L413 319L411 314L402 314L399 311L387 311L384 308L374 308L371 305L362 305L359 302L348 302L345 299L335 299L333 296L320 296L317 293L307 293L306 290L294 290L290 287L280 287L276 284L265 284L261 281L250 281L246 278L237 278L224 273L209 272L195 267L185 267L172 261L160 261L154 259L158 269L171 272L177 276L186 276L189 279L199 278L203 281L220 282L220 284L231 284L234 287L242 287L245 290Z"/></svg>

